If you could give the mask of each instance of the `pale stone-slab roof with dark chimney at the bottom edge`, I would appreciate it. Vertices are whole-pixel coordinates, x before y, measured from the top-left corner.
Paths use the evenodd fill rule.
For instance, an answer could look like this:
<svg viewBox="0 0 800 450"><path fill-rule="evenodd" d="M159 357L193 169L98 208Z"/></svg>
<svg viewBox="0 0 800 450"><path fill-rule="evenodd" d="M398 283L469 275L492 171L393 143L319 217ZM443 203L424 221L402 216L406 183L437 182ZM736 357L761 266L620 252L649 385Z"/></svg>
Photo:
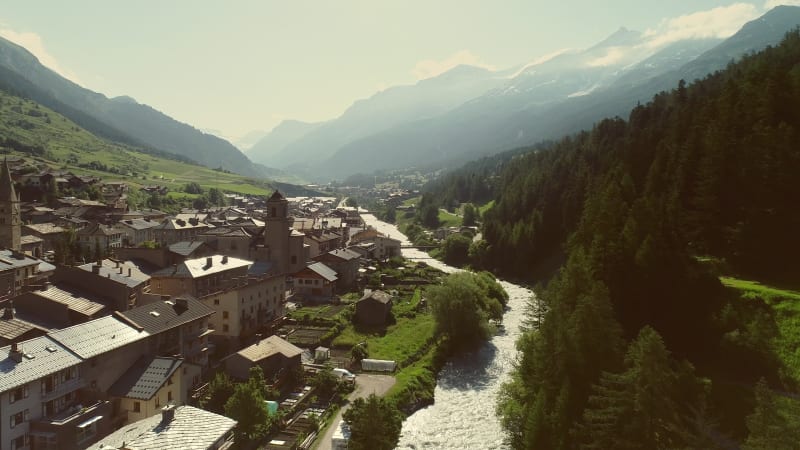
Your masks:
<svg viewBox="0 0 800 450"><path fill-rule="evenodd" d="M104 437L88 450L227 450L236 421L192 406L165 406Z"/></svg>

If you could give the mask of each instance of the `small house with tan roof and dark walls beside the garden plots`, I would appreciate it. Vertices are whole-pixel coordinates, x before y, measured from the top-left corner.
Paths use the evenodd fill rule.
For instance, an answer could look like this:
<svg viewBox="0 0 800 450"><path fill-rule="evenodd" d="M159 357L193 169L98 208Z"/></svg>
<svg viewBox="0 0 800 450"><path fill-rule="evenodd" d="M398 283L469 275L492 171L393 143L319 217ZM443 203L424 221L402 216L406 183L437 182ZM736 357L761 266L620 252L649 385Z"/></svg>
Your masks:
<svg viewBox="0 0 800 450"><path fill-rule="evenodd" d="M266 380L275 380L292 370L300 370L302 353L299 347L278 336L270 336L225 358L225 372L231 378L247 380L250 368L259 366Z"/></svg>

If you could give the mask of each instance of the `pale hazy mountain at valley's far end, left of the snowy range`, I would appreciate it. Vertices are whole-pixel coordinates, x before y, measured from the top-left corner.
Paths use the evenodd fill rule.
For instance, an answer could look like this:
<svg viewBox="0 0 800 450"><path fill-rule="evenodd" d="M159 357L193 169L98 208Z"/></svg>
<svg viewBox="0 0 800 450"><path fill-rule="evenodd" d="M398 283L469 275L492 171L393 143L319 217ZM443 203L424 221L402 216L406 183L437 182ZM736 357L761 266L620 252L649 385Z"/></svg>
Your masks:
<svg viewBox="0 0 800 450"><path fill-rule="evenodd" d="M313 129L276 127L248 152L255 161L305 171L310 162L331 157L340 147L374 133L435 117L505 82L506 74L460 65L414 85L395 86L355 102L340 117ZM302 133L301 131L305 131ZM272 134L271 133L271 134ZM297 137L287 141L292 135ZM275 142L278 145L275 145Z"/></svg>

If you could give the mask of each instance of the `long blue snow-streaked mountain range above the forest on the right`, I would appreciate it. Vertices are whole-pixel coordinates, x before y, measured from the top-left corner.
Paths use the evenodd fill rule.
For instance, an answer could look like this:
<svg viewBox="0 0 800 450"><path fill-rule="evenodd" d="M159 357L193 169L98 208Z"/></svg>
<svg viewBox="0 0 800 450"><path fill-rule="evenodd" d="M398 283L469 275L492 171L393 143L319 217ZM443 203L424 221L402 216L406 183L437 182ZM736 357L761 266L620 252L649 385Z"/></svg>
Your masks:
<svg viewBox="0 0 800 450"><path fill-rule="evenodd" d="M589 49L565 52L503 76L490 75L492 82L480 85L484 93L438 115L418 115L349 141L339 124L326 123L325 132L341 132L339 139L310 141L307 135L302 144L289 144L285 151L303 148L302 154L322 156L316 165L304 167L318 179L452 165L555 139L603 117L625 115L653 94L674 88L681 79L706 76L743 54L777 44L798 24L800 7L781 6L724 41L692 39L662 47L650 45L641 33L621 28ZM369 123L362 120L364 125ZM313 153L311 147L324 150Z"/></svg>

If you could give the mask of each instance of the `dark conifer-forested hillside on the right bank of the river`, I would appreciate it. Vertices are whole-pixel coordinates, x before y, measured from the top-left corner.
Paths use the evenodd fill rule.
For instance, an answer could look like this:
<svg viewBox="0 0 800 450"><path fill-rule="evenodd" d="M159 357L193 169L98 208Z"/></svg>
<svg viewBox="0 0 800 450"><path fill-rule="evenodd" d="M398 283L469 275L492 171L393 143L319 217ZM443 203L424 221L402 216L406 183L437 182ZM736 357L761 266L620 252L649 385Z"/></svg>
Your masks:
<svg viewBox="0 0 800 450"><path fill-rule="evenodd" d="M627 121L504 165L484 217L488 252L474 263L525 277L554 254L566 261L540 296L543 320L521 340L499 408L514 447L791 442L797 415L786 410L796 406L755 417L772 401L764 386L796 389L775 353L775 313L765 299L735 298L706 261L796 280L798 105L794 31L656 95Z"/></svg>

